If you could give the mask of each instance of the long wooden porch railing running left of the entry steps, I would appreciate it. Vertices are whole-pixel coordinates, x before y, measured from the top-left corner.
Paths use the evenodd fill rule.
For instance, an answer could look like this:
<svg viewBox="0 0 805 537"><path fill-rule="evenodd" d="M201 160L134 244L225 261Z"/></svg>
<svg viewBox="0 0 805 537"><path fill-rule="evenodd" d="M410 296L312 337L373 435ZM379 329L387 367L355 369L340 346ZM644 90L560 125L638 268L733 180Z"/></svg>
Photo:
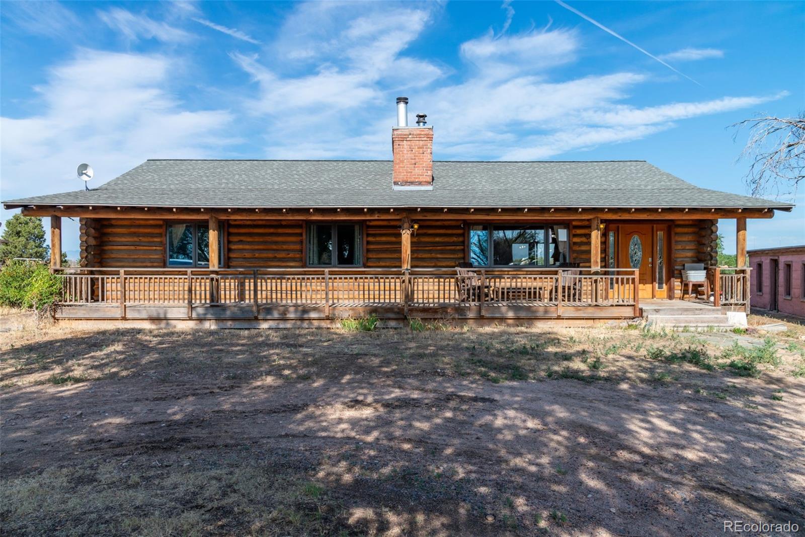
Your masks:
<svg viewBox="0 0 805 537"><path fill-rule="evenodd" d="M634 307L638 315L636 274L602 269L81 269L57 271L61 304L130 306L417 308L476 307L564 308Z"/></svg>

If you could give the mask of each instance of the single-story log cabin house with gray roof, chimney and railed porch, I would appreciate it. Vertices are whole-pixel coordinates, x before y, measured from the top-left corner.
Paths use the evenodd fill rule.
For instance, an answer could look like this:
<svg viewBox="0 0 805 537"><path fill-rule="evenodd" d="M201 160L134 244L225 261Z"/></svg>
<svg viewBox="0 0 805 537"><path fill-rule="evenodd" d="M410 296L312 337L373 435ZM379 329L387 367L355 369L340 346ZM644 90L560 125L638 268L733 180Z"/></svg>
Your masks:
<svg viewBox="0 0 805 537"><path fill-rule="evenodd" d="M743 260L747 220L792 208L645 161L433 161L426 116L397 106L391 161L155 159L3 203L50 217L57 317L217 327L631 318L680 299L688 263L708 271L705 304L748 310L749 269L716 267L719 221ZM60 266L65 217L77 268Z"/></svg>

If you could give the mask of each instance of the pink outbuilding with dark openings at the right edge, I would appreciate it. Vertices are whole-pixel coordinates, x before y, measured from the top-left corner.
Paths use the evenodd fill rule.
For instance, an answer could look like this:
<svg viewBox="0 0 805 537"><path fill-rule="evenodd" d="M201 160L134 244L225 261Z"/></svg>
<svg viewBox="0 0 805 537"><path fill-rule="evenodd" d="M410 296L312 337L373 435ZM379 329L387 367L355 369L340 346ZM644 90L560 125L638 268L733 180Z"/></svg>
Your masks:
<svg viewBox="0 0 805 537"><path fill-rule="evenodd" d="M752 306L805 318L805 245L748 254Z"/></svg>

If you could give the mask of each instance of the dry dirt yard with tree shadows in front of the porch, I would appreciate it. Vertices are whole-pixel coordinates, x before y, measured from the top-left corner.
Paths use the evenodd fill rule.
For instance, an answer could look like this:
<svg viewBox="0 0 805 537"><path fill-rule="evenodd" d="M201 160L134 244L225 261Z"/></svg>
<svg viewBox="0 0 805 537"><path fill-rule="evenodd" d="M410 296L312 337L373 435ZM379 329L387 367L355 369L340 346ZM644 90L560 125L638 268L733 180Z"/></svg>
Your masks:
<svg viewBox="0 0 805 537"><path fill-rule="evenodd" d="M2 531L805 527L802 327L445 328L0 333Z"/></svg>

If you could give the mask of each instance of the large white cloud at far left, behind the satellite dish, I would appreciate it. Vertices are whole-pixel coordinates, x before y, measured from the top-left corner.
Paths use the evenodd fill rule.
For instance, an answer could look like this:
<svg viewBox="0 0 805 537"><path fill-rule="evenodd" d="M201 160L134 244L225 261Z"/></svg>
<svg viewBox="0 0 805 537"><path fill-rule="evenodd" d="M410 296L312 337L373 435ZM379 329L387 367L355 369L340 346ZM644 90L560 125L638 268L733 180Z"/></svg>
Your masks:
<svg viewBox="0 0 805 537"><path fill-rule="evenodd" d="M93 165L97 185L149 158L221 155L233 142L221 134L232 115L184 109L166 89L176 63L84 49L54 66L35 88L41 113L0 120L3 197L79 188L81 162Z"/></svg>

